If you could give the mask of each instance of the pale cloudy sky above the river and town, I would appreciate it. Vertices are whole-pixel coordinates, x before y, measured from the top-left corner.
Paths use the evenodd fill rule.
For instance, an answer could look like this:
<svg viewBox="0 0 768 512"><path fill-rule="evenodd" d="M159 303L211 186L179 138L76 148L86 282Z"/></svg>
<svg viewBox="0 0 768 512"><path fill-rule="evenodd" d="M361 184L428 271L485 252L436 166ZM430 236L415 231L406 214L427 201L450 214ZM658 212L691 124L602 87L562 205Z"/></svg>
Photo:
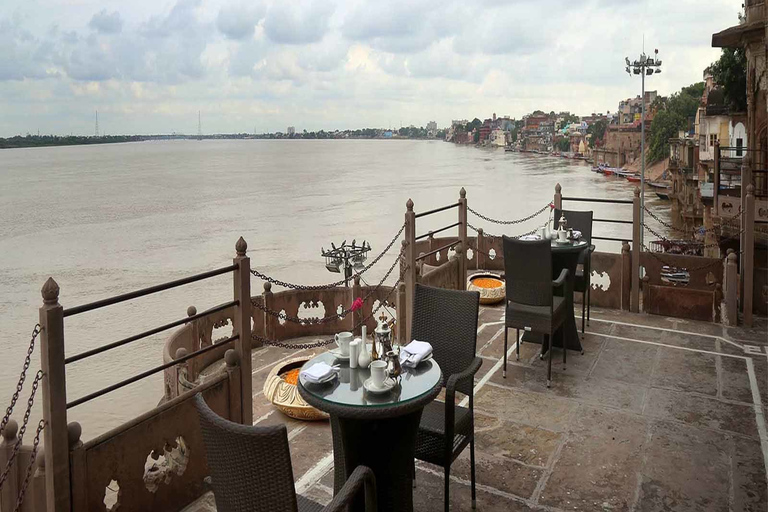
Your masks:
<svg viewBox="0 0 768 512"><path fill-rule="evenodd" d="M0 136L615 110L701 79L742 0L0 0Z"/></svg>

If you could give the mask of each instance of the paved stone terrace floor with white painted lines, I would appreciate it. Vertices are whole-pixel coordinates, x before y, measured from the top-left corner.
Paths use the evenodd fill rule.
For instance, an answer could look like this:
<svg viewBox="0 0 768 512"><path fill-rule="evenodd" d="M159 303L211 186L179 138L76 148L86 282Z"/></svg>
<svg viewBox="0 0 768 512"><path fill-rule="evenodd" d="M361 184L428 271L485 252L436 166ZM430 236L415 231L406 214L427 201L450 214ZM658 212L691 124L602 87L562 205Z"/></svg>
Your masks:
<svg viewBox="0 0 768 512"><path fill-rule="evenodd" d="M768 510L764 319L745 330L593 308L584 355L563 370L556 349L547 389L539 345L518 362L510 342L502 378L503 314L483 308L478 324L478 510ZM276 361L306 353L254 352L254 421L286 423L298 492L327 503L327 422L287 418L261 393ZM451 478L451 509L471 510L468 451ZM441 511L442 469L418 463L416 480L416 510ZM213 497L187 510L215 510Z"/></svg>

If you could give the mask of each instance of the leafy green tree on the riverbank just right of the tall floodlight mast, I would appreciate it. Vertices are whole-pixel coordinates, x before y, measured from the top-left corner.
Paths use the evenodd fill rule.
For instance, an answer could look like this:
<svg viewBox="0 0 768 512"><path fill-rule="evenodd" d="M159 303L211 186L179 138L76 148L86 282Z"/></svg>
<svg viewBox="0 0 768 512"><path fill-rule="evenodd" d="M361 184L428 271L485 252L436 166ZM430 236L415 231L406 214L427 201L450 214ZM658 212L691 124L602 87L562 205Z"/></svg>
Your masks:
<svg viewBox="0 0 768 512"><path fill-rule="evenodd" d="M683 87L670 97L659 96L651 105L656 114L648 137L648 160L656 162L669 154L669 139L688 130L704 94L704 82Z"/></svg>

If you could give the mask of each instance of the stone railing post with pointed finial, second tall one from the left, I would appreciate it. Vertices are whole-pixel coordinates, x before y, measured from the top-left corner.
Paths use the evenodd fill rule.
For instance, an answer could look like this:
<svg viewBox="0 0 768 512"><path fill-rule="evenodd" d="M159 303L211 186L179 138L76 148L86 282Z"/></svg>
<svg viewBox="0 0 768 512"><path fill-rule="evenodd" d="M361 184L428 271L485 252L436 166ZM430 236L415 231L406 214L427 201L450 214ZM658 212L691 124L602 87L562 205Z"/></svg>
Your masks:
<svg viewBox="0 0 768 512"><path fill-rule="evenodd" d="M237 334L235 351L240 357L240 398L242 400L242 423L253 424L253 383L251 382L251 259L245 255L248 244L240 237L235 244L237 252L232 262L237 265L234 271L235 308L233 334Z"/></svg>

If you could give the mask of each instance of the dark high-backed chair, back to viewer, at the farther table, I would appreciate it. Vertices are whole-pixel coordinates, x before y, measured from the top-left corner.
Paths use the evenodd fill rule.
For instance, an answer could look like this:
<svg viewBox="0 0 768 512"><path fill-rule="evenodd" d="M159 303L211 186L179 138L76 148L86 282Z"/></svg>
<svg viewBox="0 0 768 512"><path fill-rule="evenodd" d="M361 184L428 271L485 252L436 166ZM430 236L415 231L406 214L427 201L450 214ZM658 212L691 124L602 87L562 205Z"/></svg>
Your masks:
<svg viewBox="0 0 768 512"><path fill-rule="evenodd" d="M517 360L520 360L520 329L545 335L549 346L547 387L552 383L552 334L566 319L568 300L556 297L554 288L568 286L568 269L552 281L552 249L549 240L523 241L504 237L504 272L507 309L504 315L504 366L507 377L507 332L517 329ZM567 297L568 290L564 296ZM543 346L542 346L543 349ZM563 349L563 365L566 360Z"/></svg>

